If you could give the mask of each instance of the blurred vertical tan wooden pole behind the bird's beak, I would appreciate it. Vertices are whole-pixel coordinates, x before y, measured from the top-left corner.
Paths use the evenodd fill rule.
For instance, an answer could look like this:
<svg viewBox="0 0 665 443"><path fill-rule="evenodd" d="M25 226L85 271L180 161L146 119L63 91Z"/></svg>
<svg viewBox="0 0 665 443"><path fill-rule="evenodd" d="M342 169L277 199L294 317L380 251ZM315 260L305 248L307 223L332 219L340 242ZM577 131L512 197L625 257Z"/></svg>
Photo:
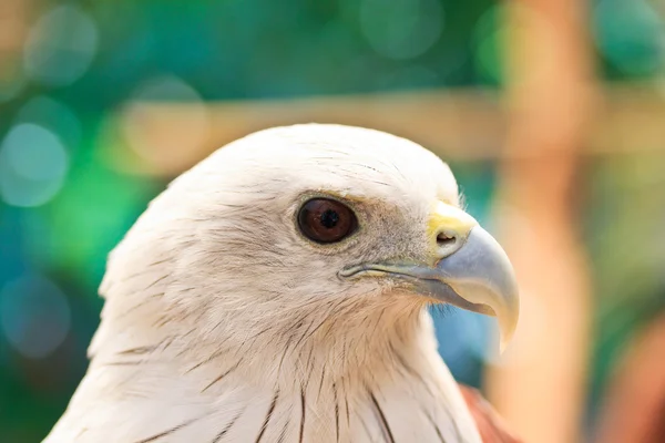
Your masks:
<svg viewBox="0 0 665 443"><path fill-rule="evenodd" d="M592 63L581 0L507 2L509 130L497 216L522 292L513 347L490 400L525 442L580 441L590 285L573 210L587 143Z"/></svg>

